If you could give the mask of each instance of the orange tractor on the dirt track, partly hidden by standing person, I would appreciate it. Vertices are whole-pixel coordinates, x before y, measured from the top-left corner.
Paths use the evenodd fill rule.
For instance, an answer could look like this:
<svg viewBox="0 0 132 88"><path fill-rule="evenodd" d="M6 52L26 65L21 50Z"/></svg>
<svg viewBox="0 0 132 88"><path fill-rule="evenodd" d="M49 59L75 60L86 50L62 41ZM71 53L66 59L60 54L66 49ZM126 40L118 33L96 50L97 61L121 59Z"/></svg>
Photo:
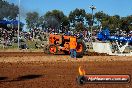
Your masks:
<svg viewBox="0 0 132 88"><path fill-rule="evenodd" d="M48 54L70 54L70 37L67 35L50 34L49 44L44 48L44 52ZM77 38L77 57L82 57L86 50L85 43Z"/></svg>

